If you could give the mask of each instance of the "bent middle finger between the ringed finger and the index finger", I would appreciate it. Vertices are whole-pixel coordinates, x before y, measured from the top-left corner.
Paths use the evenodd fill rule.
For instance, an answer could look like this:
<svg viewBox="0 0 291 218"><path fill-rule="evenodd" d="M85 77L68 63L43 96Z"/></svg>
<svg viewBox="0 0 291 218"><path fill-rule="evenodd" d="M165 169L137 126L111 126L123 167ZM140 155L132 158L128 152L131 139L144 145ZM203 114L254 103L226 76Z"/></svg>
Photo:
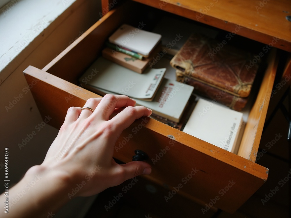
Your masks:
<svg viewBox="0 0 291 218"><path fill-rule="evenodd" d="M96 113L102 117L103 120L109 120L109 117L114 112L115 108L123 108L134 106L135 101L125 95L104 95L100 104L96 108Z"/></svg>

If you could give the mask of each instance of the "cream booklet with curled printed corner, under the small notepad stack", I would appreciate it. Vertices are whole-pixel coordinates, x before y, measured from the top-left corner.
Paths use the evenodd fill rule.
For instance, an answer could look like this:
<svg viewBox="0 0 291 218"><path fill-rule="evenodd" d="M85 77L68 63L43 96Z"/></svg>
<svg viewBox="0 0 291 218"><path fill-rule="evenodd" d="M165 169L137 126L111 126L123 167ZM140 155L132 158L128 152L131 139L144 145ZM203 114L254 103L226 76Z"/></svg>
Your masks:
<svg viewBox="0 0 291 218"><path fill-rule="evenodd" d="M164 77L166 68L148 68L138 74L103 57L98 58L79 78L87 89L123 94L135 99L152 101ZM102 93L100 93L102 94Z"/></svg>

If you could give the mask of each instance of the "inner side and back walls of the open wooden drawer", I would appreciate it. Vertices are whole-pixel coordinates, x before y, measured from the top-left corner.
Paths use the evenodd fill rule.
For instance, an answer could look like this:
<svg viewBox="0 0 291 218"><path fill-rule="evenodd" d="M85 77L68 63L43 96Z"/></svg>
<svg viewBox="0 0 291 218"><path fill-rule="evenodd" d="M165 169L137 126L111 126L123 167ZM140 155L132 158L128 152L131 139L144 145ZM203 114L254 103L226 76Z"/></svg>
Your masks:
<svg viewBox="0 0 291 218"><path fill-rule="evenodd" d="M138 10L138 8L143 8L143 10ZM132 10L132 12L130 15L128 15L130 10ZM125 14L127 16L125 16ZM88 29L88 31L79 37L76 42L72 43L71 46L69 46L59 56L52 60L42 70L69 81L70 83L79 85L78 78L86 71L92 62L96 60L96 58L101 56L101 51L104 48L104 42L121 24L127 23L133 26L139 26L140 23L143 23L145 24L143 29L151 31L155 27L155 23L159 22L161 17L165 16L166 19L170 18L169 22L173 22L173 20L177 21L175 25L173 25L173 28L177 28L177 26L179 26L179 19L183 22L182 24L186 23L191 25L190 20L171 15L172 14L170 13L144 6L139 3L127 2L120 10L114 10L113 12L109 12L108 15L102 17L96 24ZM210 35L214 35L215 32L217 32L218 35L224 35L227 33L204 24L198 24L194 21L192 21L192 23L194 25L199 25L198 28L202 29L202 31L200 30L202 33L205 33L205 29L207 29L206 32L210 32ZM182 28L187 28L187 26ZM184 39L186 39L191 32L193 31L187 30L186 35L183 34ZM178 34L180 35L180 32L177 32L177 35ZM262 48L261 43L245 39L244 37L232 39L232 41L229 43L233 43L235 46L243 46L243 43L240 43L239 40L245 40L245 43L249 44L248 51L255 52L258 51L257 48ZM251 106L246 108L244 111L246 117L250 116L249 121L253 120L253 125L251 125L251 122L247 121L244 134L247 137L243 136L241 146L239 146L240 149L238 151L239 156L242 156L253 162L255 162L259 145L258 142L260 141L261 136L261 133L253 131L253 129L257 126L257 129L260 130L260 127L262 127L264 124L264 113L266 111L263 109L267 110L268 108L268 99L272 92L272 83L274 82L275 76L274 73L276 73L275 52L269 52L268 55L269 59L267 60L267 63L269 69L266 70L264 67L262 67L261 71L266 71L266 74L271 72L271 74L265 75L265 78L259 78L256 80L256 82L259 84L255 84L254 86L256 86L257 89L260 88L261 94L258 95L257 90L254 90L253 94L255 96L258 95L258 97L254 98L253 102L251 102ZM272 69L272 67L274 69ZM262 80L262 84L264 85L263 87L260 87ZM263 110L263 113L261 113L261 110Z"/></svg>

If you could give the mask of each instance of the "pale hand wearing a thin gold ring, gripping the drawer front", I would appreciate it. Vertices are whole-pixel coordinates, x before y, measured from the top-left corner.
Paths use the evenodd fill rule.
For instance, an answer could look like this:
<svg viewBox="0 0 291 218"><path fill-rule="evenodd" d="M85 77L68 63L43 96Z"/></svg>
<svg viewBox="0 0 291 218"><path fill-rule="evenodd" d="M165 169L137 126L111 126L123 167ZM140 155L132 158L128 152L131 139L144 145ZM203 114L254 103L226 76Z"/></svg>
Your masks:
<svg viewBox="0 0 291 218"><path fill-rule="evenodd" d="M149 116L151 110L133 107L135 101L123 95L88 99L88 109L69 108L58 136L41 166L71 175L74 187L86 182L77 195L90 196L141 174L150 174L142 161L117 164L112 156L116 140L135 119ZM121 110L110 119L113 112ZM89 181L88 178L95 174ZM88 176L90 175L90 177Z"/></svg>

